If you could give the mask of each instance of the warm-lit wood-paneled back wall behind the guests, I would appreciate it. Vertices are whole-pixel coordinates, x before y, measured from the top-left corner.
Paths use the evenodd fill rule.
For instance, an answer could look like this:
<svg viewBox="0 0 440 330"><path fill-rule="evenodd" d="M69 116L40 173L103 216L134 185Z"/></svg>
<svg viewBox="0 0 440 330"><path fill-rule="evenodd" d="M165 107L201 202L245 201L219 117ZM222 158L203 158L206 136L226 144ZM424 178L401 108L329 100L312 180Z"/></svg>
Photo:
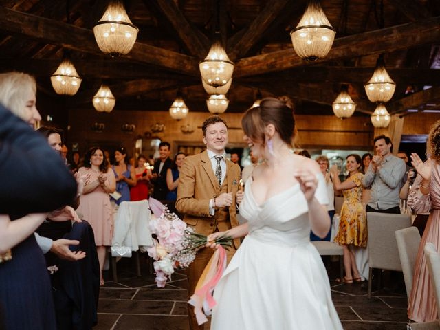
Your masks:
<svg viewBox="0 0 440 330"><path fill-rule="evenodd" d="M164 124L165 129L160 133L152 133L163 141L172 144L175 153L177 144L200 143L202 141L201 124L210 113L190 112L188 117L177 122L170 118L168 111L113 111L98 113L91 109L76 109L69 111L69 126L67 145L77 142L80 151L94 145L111 144L125 146L133 150L137 137L151 132L155 123ZM221 115L229 126L231 146L245 146L241 130L241 113L224 113ZM440 119L434 113L415 113L404 120L403 134L426 134L430 126ZM91 130L94 122L105 125L102 133ZM369 149L373 145L374 129L368 117L352 117L340 120L333 115L296 115L298 139L296 145L302 148L360 148ZM123 124L135 124L133 133L124 133ZM182 133L181 126L189 124L195 130L193 133Z"/></svg>

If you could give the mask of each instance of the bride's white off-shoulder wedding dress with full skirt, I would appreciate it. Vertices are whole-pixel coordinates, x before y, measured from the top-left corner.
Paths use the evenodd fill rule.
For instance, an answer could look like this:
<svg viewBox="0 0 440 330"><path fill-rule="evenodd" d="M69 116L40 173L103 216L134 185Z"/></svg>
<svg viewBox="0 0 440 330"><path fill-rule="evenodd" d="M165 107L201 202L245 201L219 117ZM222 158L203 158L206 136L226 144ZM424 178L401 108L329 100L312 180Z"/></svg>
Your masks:
<svg viewBox="0 0 440 330"><path fill-rule="evenodd" d="M315 197L327 203L322 175ZM249 234L214 291L212 330L342 329L329 278L310 243L307 201L299 184L259 206L246 182L240 214Z"/></svg>

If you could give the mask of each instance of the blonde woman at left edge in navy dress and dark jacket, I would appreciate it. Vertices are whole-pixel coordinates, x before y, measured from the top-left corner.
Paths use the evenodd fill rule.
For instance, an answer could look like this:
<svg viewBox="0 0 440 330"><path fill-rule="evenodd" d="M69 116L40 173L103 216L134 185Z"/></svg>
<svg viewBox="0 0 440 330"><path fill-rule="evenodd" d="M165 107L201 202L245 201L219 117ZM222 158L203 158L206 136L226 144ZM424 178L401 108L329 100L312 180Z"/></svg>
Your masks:
<svg viewBox="0 0 440 330"><path fill-rule="evenodd" d="M65 205L76 195L76 181L28 126L41 120L34 78L0 74L0 103L22 119L0 105L0 308L8 330L54 330L50 279L33 234L45 214L28 213ZM8 214L21 215L11 221Z"/></svg>

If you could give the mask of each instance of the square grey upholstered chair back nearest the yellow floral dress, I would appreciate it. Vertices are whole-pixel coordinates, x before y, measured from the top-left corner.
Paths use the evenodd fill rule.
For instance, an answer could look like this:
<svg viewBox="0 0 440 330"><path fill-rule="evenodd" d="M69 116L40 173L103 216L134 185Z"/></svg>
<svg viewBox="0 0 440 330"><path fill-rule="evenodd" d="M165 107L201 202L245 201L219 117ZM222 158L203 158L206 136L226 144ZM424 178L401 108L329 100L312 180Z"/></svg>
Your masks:
<svg viewBox="0 0 440 330"><path fill-rule="evenodd" d="M369 267L401 272L395 231L408 228L411 217L406 214L367 212L369 232Z"/></svg>

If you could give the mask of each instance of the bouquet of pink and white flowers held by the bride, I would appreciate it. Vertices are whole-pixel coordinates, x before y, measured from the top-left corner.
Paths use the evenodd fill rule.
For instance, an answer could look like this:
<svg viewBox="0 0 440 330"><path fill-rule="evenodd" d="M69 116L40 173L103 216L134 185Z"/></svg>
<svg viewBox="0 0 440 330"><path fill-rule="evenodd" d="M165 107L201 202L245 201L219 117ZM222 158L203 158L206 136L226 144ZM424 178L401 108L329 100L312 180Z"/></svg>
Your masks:
<svg viewBox="0 0 440 330"><path fill-rule="evenodd" d="M207 238L194 232L159 201L150 198L149 203L155 215L150 221L150 229L157 239L153 239L154 246L147 252L155 260L157 287L165 287L176 268L186 268L194 261L197 250L203 248ZM221 236L216 243L231 246L232 239Z"/></svg>

